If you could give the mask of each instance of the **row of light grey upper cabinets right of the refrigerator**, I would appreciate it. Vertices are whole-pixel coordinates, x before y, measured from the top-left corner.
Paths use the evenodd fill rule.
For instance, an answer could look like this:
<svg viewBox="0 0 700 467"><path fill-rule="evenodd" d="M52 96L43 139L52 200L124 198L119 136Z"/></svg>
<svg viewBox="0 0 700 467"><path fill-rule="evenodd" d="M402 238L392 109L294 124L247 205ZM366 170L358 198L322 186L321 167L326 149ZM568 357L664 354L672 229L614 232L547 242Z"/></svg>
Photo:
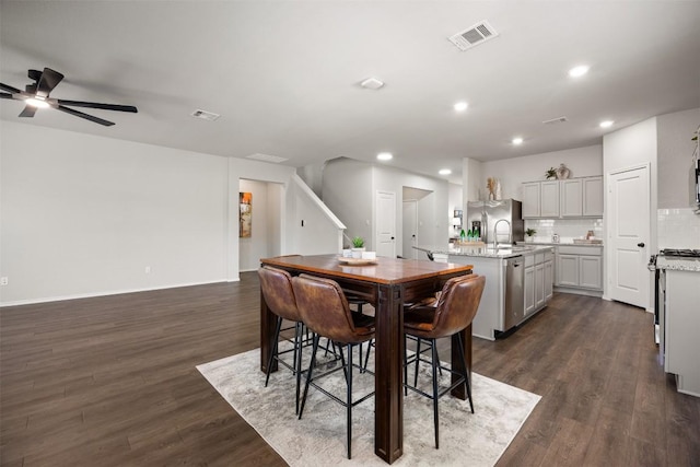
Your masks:
<svg viewBox="0 0 700 467"><path fill-rule="evenodd" d="M523 184L523 219L602 217L600 176Z"/></svg>

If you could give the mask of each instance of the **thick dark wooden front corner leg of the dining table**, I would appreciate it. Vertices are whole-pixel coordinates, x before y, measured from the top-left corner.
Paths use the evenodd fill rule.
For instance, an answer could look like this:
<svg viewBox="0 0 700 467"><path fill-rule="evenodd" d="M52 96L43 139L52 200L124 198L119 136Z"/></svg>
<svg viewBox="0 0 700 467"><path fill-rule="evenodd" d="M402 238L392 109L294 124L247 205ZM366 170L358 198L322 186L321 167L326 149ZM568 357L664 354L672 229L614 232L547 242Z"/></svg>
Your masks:
<svg viewBox="0 0 700 467"><path fill-rule="evenodd" d="M380 285L376 307L374 454L392 464L404 454L404 313L401 288Z"/></svg>

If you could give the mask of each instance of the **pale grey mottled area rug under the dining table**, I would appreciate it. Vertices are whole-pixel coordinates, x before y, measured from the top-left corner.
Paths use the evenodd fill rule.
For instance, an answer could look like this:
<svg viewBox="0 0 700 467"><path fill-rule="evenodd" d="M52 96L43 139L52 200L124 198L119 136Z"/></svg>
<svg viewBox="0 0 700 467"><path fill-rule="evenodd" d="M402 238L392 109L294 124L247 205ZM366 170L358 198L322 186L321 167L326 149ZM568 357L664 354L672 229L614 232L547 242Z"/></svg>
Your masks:
<svg viewBox="0 0 700 467"><path fill-rule="evenodd" d="M280 365L280 371L270 375L270 383L265 387L259 364L260 352L255 349L197 369L290 466L386 466L374 454L373 397L353 409L352 459L348 459L345 407L312 387L303 418L298 420L295 380L291 371ZM355 398L373 389L372 378L368 373L354 372ZM430 387L428 364L421 365L419 380ZM342 372L322 384L345 397ZM394 466L492 466L497 463L540 397L476 373L472 373L471 386L475 413L466 400L450 396L440 399L440 450L434 447L432 401L409 392L404 398L404 455Z"/></svg>

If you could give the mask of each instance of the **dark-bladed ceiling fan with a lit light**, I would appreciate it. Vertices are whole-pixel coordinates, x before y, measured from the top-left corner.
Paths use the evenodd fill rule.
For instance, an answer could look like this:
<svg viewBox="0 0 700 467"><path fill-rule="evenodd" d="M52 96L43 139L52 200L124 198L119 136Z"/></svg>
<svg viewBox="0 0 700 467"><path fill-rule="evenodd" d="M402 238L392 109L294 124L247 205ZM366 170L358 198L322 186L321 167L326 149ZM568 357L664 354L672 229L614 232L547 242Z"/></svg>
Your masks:
<svg viewBox="0 0 700 467"><path fill-rule="evenodd" d="M8 91L7 93L0 93L0 98L13 98L15 101L24 101L26 106L20 114L20 117L34 117L34 114L38 108L55 108L57 110L65 112L75 117L84 118L95 124L110 127L114 121L108 121L93 115L88 115L79 110L74 110L70 107L88 107L88 108L101 108L104 110L118 110L118 112L132 112L137 113L137 108L132 105L118 105L118 104L100 104L96 102L82 102L82 101L66 101L61 98L49 97L49 93L61 82L63 75L58 71L45 68L44 71L28 70L27 75L33 83L25 86L25 91L18 90L16 87L9 86L0 83L0 89Z"/></svg>

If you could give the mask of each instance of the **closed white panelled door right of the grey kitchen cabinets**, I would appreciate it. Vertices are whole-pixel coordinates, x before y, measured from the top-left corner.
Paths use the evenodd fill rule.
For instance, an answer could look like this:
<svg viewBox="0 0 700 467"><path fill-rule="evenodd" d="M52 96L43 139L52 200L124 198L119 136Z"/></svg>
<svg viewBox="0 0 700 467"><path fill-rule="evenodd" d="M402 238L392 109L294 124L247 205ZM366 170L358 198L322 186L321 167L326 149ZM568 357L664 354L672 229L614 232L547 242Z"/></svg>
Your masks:
<svg viewBox="0 0 700 467"><path fill-rule="evenodd" d="M608 296L649 307L649 166L608 174Z"/></svg>

